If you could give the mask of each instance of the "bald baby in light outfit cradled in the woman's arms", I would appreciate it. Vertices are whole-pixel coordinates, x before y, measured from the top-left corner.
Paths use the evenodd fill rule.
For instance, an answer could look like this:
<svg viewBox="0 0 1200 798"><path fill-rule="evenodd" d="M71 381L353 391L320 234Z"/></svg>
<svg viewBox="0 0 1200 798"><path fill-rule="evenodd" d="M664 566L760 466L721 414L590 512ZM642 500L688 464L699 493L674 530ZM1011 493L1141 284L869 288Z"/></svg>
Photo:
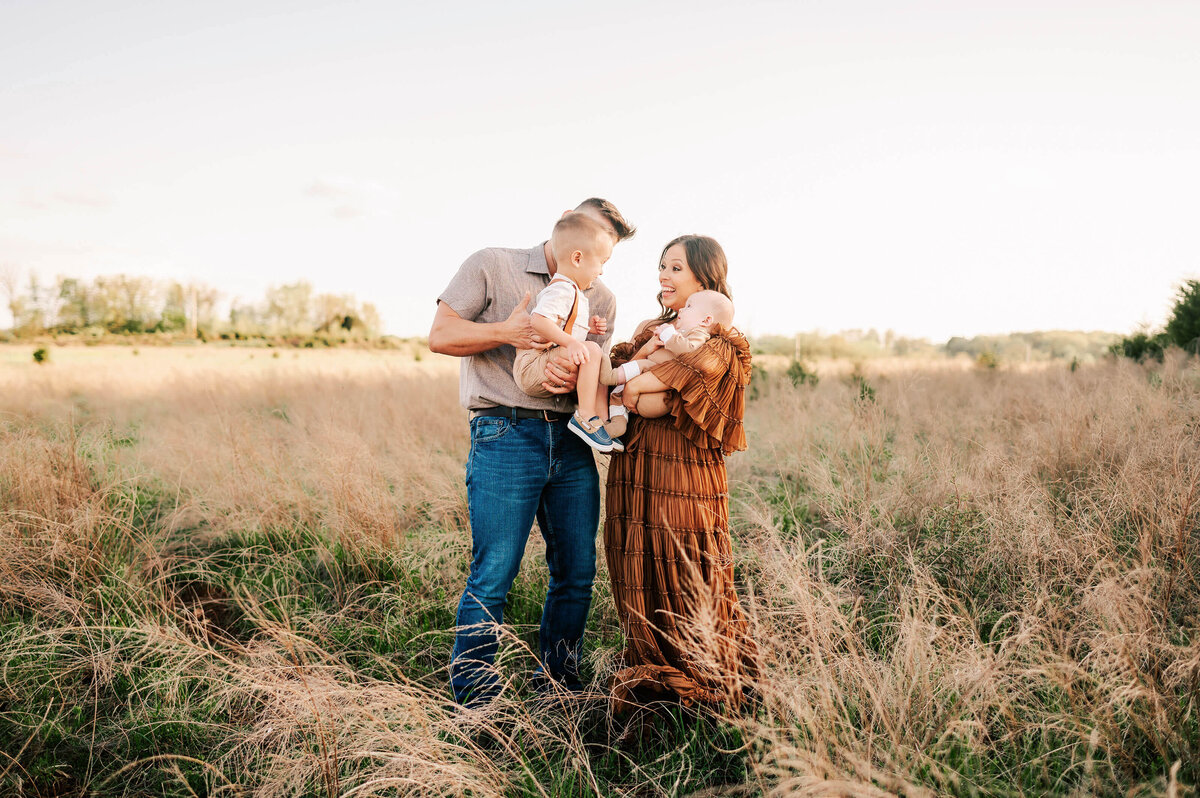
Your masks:
<svg viewBox="0 0 1200 798"><path fill-rule="evenodd" d="M716 290L698 290L688 298L674 322L661 324L654 330L654 335L638 349L634 360L612 370L610 385L628 384L612 394L619 407L610 408L612 421L607 427L611 436L619 436L625 431L625 408L619 394L622 390L626 400L636 403L637 414L642 418L656 419L667 414L666 386L658 379L638 377L653 373L652 370L658 364L698 349L712 337L716 324L725 329L733 325L733 300Z"/></svg>

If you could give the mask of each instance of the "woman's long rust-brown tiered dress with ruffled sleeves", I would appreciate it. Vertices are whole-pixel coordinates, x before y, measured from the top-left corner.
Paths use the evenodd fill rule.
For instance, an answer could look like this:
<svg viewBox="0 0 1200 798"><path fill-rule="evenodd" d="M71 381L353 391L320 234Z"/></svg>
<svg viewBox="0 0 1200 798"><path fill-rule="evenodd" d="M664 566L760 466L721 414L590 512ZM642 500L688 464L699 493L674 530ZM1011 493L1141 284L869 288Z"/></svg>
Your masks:
<svg viewBox="0 0 1200 798"><path fill-rule="evenodd" d="M614 347L613 364L650 335ZM745 449L750 346L718 326L654 374L672 389L670 414L632 416L608 467L605 557L626 640L613 700L737 703L755 648L733 587L725 455Z"/></svg>

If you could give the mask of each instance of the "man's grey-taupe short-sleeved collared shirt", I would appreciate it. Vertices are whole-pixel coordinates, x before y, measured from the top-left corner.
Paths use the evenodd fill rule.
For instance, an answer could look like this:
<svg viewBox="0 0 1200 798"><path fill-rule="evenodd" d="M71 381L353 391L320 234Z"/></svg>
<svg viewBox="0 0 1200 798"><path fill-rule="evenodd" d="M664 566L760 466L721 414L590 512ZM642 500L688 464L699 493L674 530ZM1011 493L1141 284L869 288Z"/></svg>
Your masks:
<svg viewBox="0 0 1200 798"><path fill-rule="evenodd" d="M509 318L526 292L533 298L550 283L550 264L544 245L529 250L480 250L458 268L450 284L438 296L461 318L468 322L492 323ZM589 335L601 349L607 349L617 318L617 302L612 292L599 280L583 292L592 313L608 319L606 335ZM469 410L485 407L526 407L535 410L570 413L575 395L534 398L512 380L512 359L516 349L509 344L462 359L458 374L458 401Z"/></svg>

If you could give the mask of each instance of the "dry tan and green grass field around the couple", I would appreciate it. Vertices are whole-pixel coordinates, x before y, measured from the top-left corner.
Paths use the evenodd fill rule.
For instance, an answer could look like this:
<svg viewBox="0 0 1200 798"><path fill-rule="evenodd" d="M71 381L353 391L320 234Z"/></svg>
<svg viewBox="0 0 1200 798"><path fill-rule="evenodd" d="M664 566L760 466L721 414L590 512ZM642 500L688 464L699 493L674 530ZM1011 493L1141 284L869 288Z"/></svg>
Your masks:
<svg viewBox="0 0 1200 798"><path fill-rule="evenodd" d="M1182 796L1200 780L1200 367L760 374L730 461L758 700L616 744L445 667L469 556L455 362L0 348L0 793Z"/></svg>

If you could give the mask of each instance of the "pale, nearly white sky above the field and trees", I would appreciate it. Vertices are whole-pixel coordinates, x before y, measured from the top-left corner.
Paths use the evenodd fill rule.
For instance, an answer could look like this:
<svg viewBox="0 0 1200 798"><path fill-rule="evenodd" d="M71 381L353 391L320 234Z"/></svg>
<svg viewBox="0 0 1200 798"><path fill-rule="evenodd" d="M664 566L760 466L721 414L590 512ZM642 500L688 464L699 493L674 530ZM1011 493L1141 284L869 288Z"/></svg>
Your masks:
<svg viewBox="0 0 1200 798"><path fill-rule="evenodd" d="M613 200L751 334L1159 324L1200 276L1200 2L0 0L0 264L311 281L428 331ZM0 328L11 320L0 308Z"/></svg>

